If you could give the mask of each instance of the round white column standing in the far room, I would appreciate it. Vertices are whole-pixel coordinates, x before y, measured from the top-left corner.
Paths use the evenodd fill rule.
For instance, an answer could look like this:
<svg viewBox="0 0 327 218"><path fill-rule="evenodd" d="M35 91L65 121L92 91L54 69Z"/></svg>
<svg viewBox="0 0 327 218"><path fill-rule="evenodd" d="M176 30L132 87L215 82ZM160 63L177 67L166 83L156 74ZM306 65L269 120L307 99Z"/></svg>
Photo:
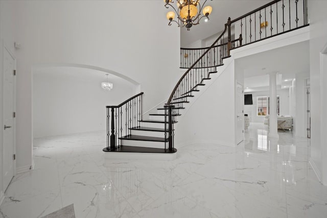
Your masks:
<svg viewBox="0 0 327 218"><path fill-rule="evenodd" d="M278 138L276 72L269 74L269 137Z"/></svg>

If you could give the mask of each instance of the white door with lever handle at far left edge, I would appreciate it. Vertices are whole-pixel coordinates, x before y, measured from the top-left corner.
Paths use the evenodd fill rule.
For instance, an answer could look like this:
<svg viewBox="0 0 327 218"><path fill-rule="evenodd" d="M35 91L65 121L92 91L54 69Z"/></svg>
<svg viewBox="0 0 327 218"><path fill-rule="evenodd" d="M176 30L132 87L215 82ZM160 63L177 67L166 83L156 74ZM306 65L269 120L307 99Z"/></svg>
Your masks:
<svg viewBox="0 0 327 218"><path fill-rule="evenodd" d="M3 102L3 117L4 117L4 150L3 150L3 172L4 172L4 187L5 190L8 187L10 181L15 175L15 78L14 78L14 67L15 60L9 53L4 49L4 102Z"/></svg>

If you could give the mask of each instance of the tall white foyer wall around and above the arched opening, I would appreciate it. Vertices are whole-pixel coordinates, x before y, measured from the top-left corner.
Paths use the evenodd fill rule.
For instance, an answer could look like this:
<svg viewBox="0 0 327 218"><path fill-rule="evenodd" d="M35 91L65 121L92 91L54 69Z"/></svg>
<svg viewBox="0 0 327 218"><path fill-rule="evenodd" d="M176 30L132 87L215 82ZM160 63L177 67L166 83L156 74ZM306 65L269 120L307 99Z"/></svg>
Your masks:
<svg viewBox="0 0 327 218"><path fill-rule="evenodd" d="M162 1L7 4L15 7L15 37L21 43L16 52L17 167L32 164L26 154L32 153L35 64L77 63L119 72L141 84L144 111L167 99L179 79L179 28L167 25Z"/></svg>

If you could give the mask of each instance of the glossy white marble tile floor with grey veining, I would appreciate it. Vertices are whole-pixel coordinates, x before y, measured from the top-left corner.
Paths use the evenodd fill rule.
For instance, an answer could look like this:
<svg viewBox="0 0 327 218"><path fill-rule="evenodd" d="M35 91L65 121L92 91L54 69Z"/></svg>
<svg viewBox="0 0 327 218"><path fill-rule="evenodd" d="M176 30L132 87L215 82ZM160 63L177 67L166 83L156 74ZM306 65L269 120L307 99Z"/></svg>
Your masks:
<svg viewBox="0 0 327 218"><path fill-rule="evenodd" d="M251 124L236 148L190 144L177 159L108 159L105 132L34 139L35 168L17 174L1 218L42 217L74 204L76 217L326 218L327 187L310 141Z"/></svg>

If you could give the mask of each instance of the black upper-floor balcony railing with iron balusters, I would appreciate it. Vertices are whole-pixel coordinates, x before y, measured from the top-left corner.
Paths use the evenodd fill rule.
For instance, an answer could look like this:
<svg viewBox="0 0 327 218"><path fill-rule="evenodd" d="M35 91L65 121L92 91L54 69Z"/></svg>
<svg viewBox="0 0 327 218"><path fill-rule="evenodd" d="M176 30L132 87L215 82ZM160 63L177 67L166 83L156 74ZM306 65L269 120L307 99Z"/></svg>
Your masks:
<svg viewBox="0 0 327 218"><path fill-rule="evenodd" d="M226 33L194 68L213 67L222 64L230 49L267 39L279 34L308 26L306 0L275 0L241 17L230 21L230 33ZM189 68L209 47L180 49L180 67Z"/></svg>

